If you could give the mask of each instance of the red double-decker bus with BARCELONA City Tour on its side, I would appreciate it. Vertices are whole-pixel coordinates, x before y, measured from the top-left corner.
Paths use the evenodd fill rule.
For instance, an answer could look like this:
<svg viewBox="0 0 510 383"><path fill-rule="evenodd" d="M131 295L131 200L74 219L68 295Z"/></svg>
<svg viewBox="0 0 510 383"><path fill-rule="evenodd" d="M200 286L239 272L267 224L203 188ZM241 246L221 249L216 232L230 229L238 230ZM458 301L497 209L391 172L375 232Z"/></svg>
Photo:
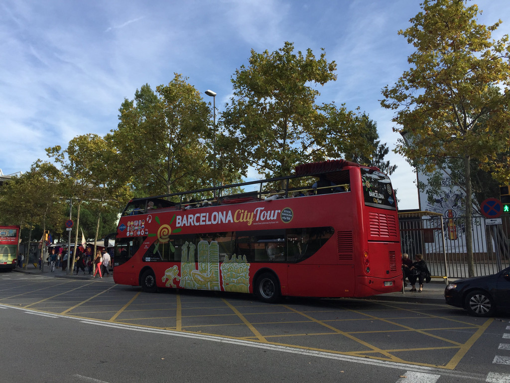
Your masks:
<svg viewBox="0 0 510 383"><path fill-rule="evenodd" d="M239 193L249 186L258 190ZM393 188L376 167L340 159L287 177L133 199L113 265L116 283L146 292L243 292L265 302L397 292Z"/></svg>

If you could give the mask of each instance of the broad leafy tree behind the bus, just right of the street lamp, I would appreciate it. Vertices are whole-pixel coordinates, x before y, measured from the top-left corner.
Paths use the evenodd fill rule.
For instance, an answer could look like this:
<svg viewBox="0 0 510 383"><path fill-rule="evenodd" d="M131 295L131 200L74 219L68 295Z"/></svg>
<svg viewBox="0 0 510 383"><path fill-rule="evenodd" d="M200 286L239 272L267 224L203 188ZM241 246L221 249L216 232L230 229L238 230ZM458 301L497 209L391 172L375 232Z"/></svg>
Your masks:
<svg viewBox="0 0 510 383"><path fill-rule="evenodd" d="M316 87L336 80L335 69L324 52L319 58L310 49L295 54L291 42L272 53L251 51L249 66L232 78L234 97L220 117L243 172L251 165L266 177L288 175L299 163L338 158L354 147L370 155L359 113L316 104Z"/></svg>

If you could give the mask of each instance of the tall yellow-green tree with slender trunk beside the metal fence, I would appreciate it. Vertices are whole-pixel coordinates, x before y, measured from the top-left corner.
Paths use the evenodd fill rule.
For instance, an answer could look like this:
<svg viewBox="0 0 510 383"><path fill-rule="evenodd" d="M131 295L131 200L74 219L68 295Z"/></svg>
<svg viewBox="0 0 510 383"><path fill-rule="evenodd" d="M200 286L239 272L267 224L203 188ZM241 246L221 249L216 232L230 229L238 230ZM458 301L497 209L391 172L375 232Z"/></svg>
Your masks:
<svg viewBox="0 0 510 383"><path fill-rule="evenodd" d="M491 169L500 182L510 178L508 156L510 110L508 36L491 40L490 27L476 22L478 8L462 0L424 0L423 12L400 35L416 51L412 65L393 87L382 89L381 105L395 110L393 122L406 132L409 145L395 151L431 172L462 161L466 192L466 247L469 276L474 275L472 249L471 162Z"/></svg>

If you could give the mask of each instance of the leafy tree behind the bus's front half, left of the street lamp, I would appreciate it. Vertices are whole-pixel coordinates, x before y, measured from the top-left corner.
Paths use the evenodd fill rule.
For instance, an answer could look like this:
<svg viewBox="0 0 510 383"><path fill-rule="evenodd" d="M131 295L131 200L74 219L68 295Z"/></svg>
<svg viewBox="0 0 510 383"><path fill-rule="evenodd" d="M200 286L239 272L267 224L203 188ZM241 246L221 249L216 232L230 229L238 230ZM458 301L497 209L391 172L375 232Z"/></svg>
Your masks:
<svg viewBox="0 0 510 383"><path fill-rule="evenodd" d="M107 137L131 176L136 196L212 186L211 110L187 78L175 74L157 93L148 84L125 99Z"/></svg>

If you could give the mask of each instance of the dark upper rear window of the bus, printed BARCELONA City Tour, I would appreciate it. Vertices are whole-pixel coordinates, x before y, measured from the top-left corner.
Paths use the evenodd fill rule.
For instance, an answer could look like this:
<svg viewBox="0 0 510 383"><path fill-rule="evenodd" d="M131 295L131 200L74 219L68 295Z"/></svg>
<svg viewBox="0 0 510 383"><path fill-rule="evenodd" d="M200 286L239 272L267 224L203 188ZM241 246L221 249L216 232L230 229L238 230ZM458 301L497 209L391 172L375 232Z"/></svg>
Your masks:
<svg viewBox="0 0 510 383"><path fill-rule="evenodd" d="M390 178L377 170L361 169L365 205L382 209L396 209Z"/></svg>

